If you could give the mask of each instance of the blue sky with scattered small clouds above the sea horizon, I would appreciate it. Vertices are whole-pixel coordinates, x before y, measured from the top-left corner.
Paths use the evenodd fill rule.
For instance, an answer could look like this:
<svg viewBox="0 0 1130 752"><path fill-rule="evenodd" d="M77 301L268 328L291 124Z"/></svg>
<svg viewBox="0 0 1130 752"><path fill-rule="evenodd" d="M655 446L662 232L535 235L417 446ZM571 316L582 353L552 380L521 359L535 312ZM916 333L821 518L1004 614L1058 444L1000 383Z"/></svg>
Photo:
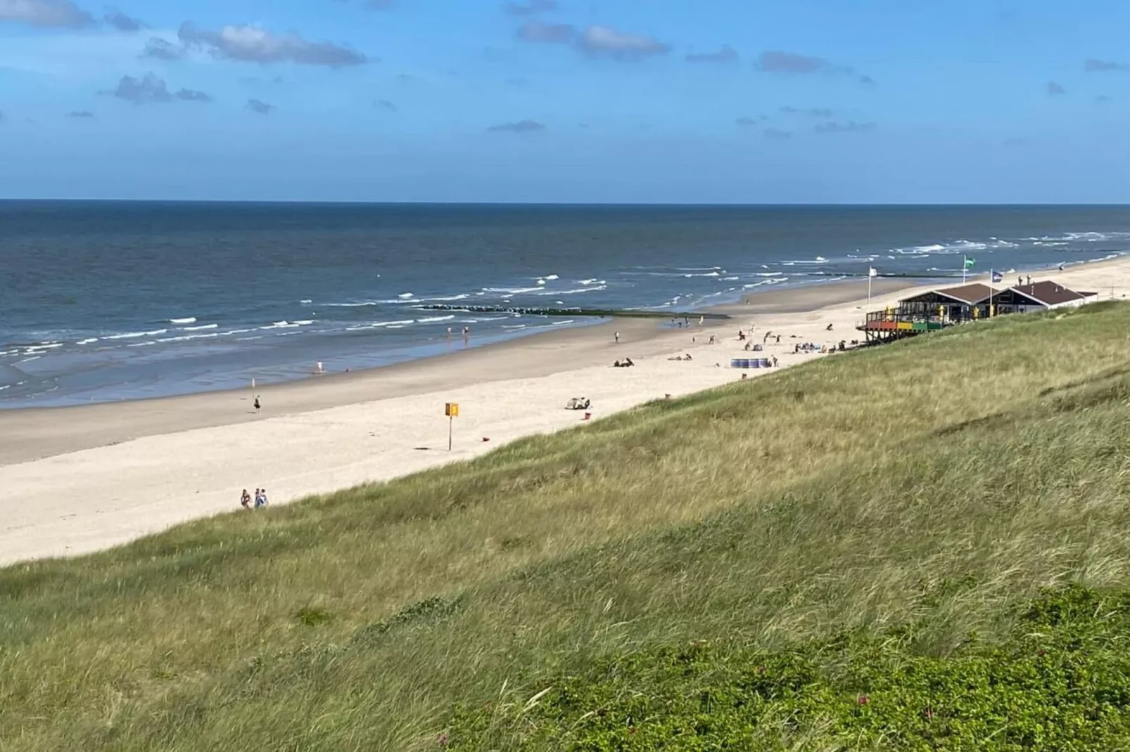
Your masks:
<svg viewBox="0 0 1130 752"><path fill-rule="evenodd" d="M0 198L1130 203L1114 0L0 0Z"/></svg>

